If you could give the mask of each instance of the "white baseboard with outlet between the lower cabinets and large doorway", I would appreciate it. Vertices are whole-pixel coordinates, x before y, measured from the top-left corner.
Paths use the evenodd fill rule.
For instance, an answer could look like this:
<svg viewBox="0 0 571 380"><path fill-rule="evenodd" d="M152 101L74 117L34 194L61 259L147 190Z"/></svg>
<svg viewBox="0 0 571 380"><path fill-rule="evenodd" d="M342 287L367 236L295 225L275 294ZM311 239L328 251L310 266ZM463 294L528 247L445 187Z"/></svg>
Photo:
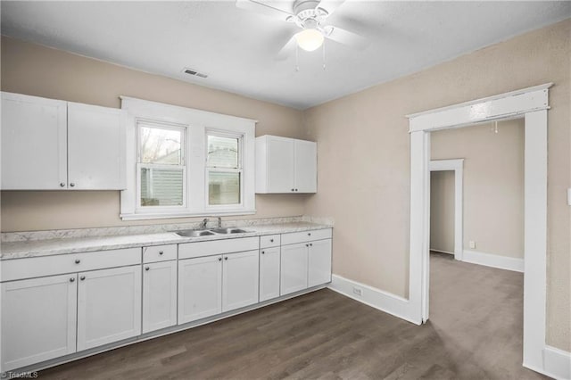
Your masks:
<svg viewBox="0 0 571 380"><path fill-rule="evenodd" d="M409 317L409 300L401 298L398 295L383 292L372 286L360 284L357 281L337 275L332 276L329 289L352 298L355 301L365 303L372 308L385 311L385 313L391 314L394 317L402 318L418 325L413 318Z"/></svg>

